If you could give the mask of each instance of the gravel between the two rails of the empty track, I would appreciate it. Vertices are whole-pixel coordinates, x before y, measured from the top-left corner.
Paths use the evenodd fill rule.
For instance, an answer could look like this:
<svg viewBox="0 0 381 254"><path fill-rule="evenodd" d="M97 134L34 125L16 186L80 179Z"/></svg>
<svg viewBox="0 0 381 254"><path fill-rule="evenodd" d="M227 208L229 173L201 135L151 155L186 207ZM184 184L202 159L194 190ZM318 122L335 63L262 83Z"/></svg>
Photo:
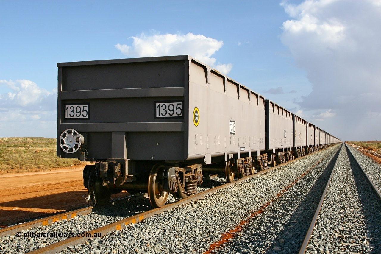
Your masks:
<svg viewBox="0 0 381 254"><path fill-rule="evenodd" d="M381 249L379 211L381 201L343 148L307 253L377 253Z"/></svg>

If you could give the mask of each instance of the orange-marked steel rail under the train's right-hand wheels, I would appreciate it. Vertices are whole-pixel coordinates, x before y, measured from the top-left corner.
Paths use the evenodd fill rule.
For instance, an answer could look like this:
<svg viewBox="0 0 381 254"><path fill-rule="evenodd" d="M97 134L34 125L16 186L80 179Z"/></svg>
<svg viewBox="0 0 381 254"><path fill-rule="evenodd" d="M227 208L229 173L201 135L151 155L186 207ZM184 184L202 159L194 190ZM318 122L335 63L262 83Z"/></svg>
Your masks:
<svg viewBox="0 0 381 254"><path fill-rule="evenodd" d="M323 150L320 150L320 151L323 151ZM317 151L317 153L319 153L320 151ZM310 154L308 154L308 155L310 155ZM58 241L56 243L44 246L42 248L35 249L33 251L30 251L29 253L30 254L37 254L37 253L53 254L55 252L62 251L63 249L67 248L68 246L74 246L74 245L78 245L78 244L83 244L89 238L95 238L96 236L94 237L94 235L101 234L103 236L103 235L107 235L107 233L109 233L110 231L122 230L123 228L125 228L127 225L129 225L131 223L138 223L141 220L149 218L149 217L151 217L151 216L153 216L155 214L160 214L160 213L162 213L164 211L168 211L168 210L170 210L170 209L172 209L172 208L174 208L176 206L180 206L182 204L190 203L190 202L192 202L192 201L194 201L196 199L200 199L200 198L203 198L206 195L209 195L211 193L215 193L218 190L221 190L221 189L227 188L229 186L238 184L238 183L246 181L246 180L248 180L250 178L257 177L258 175L264 174L265 172L269 172L269 171L271 171L273 169L276 169L279 166L286 165L288 163L297 161L297 160L305 158L305 157L306 156L303 156L303 157L294 159L292 161L288 161L288 162L280 164L280 165L278 165L276 167L271 167L269 169L260 171L260 172L258 172L256 174L253 174L253 175L250 175L250 176L247 176L247 177L244 177L244 178L240 178L240 179L238 179L238 180L236 180L234 182L225 183L225 184L217 186L215 188L203 191L201 193L197 193L195 195L190 196L189 198L180 199L180 200L178 200L176 202L173 202L173 203L170 203L170 204L166 204L163 207L158 207L158 208L146 211L146 212L142 212L140 214L137 214L137 215L134 215L134 216L131 216L131 217L119 220L117 222L110 223L109 225L105 225L103 227L96 228L94 230L81 233L80 236L70 237L70 238L67 238L65 240Z"/></svg>

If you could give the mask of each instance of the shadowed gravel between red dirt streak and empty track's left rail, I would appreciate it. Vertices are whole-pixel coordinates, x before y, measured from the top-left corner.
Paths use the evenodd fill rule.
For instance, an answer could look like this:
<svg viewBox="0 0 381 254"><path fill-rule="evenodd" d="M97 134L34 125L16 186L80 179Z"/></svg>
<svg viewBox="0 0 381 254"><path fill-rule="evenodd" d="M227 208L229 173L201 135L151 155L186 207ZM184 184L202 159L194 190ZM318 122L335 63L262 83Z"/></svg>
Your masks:
<svg viewBox="0 0 381 254"><path fill-rule="evenodd" d="M337 156L336 146L218 253L298 253Z"/></svg>

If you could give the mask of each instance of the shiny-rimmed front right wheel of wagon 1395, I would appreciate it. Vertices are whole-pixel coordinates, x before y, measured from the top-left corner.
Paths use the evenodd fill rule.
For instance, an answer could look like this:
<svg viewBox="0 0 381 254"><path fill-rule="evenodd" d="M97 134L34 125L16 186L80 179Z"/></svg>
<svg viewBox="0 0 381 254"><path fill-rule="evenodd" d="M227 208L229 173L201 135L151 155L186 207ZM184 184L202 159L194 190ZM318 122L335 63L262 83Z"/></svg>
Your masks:
<svg viewBox="0 0 381 254"><path fill-rule="evenodd" d="M162 207L168 198L168 192L163 190L163 166L152 167L148 177L148 198L153 207Z"/></svg>

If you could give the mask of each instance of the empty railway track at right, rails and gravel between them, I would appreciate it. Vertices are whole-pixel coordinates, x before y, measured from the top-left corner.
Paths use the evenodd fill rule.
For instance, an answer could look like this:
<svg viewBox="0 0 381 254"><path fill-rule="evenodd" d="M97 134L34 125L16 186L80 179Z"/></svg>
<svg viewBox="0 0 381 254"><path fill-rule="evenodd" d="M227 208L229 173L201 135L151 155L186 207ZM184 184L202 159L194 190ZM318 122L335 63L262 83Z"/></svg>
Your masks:
<svg viewBox="0 0 381 254"><path fill-rule="evenodd" d="M381 234L379 233L381 217L372 212L381 210L379 186L373 183L366 170L363 169L347 145L343 146L342 150L342 156L338 158L335 163L335 167L332 170L299 254L315 251L349 251L351 253L377 252L379 247L381 247ZM339 161L339 159L341 159L341 161ZM347 172L350 169L351 172L349 173L352 174L344 175L343 168L346 169ZM341 182L341 184L340 182L331 183L331 179L335 174L336 177L337 175L343 176L343 180L347 180L347 182ZM351 178L354 182L351 181ZM353 186L356 186L356 188L351 188ZM329 192L329 188L333 190ZM341 202L332 203L335 198L331 196L333 196L332 194L335 193L338 188L348 190L347 195L352 195L348 193L349 190L353 191L354 198L352 198L353 203L351 205L345 204L349 202L348 199L344 202L341 200ZM323 206L324 204L325 206ZM322 211L322 209L325 211ZM335 221L331 222L330 220ZM327 223L331 225L327 225ZM335 230L333 230L334 232L329 232L332 225L335 225Z"/></svg>

